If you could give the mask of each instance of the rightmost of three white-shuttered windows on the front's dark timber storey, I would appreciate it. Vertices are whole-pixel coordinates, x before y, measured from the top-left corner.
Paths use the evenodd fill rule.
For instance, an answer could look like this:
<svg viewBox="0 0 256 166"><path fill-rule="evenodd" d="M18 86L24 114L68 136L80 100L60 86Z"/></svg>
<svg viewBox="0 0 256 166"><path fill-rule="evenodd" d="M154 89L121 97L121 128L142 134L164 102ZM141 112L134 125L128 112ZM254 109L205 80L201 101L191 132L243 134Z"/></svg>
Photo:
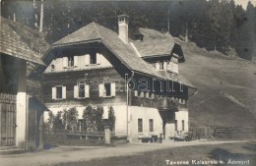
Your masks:
<svg viewBox="0 0 256 166"><path fill-rule="evenodd" d="M115 96L115 83L98 84L98 90L100 97Z"/></svg>

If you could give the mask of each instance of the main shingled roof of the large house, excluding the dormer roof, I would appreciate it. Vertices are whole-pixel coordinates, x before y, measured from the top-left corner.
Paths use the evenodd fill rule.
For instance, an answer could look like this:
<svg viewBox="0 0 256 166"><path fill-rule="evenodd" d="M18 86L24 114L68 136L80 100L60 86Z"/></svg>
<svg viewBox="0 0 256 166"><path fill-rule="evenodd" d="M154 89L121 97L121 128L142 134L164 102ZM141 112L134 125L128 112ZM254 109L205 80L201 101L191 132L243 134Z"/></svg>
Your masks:
<svg viewBox="0 0 256 166"><path fill-rule="evenodd" d="M92 40L100 40L109 50L111 50L116 55L116 57L124 62L124 64L130 70L161 79L166 78L164 75L156 71L154 67L142 60L136 54L132 46L130 44L124 43L118 37L116 32L112 31L111 29L104 28L94 22L53 43L53 47L86 43Z"/></svg>

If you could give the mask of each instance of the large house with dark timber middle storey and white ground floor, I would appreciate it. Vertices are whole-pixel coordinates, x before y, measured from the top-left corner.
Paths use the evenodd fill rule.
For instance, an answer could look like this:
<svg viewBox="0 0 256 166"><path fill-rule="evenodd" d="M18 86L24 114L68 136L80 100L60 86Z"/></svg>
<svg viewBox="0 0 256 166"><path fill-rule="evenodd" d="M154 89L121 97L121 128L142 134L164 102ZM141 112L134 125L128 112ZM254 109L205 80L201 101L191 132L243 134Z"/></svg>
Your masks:
<svg viewBox="0 0 256 166"><path fill-rule="evenodd" d="M181 46L169 34L144 36L148 29L130 39L128 19L118 17L118 33L91 23L53 43L43 56L47 68L33 71L44 71L44 103L53 113L76 107L80 119L89 104L112 106L115 135L130 140L188 131L188 96L196 88L178 75Z"/></svg>

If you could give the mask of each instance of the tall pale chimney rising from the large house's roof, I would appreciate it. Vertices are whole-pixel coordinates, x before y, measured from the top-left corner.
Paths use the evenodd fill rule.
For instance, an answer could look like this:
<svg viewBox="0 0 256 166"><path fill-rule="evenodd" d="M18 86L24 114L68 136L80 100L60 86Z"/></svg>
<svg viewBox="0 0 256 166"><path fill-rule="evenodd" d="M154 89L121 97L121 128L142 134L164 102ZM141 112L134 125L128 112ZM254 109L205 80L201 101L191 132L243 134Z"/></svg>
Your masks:
<svg viewBox="0 0 256 166"><path fill-rule="evenodd" d="M123 40L124 43L128 43L128 19L127 15L120 15L118 17L118 34L119 38Z"/></svg>

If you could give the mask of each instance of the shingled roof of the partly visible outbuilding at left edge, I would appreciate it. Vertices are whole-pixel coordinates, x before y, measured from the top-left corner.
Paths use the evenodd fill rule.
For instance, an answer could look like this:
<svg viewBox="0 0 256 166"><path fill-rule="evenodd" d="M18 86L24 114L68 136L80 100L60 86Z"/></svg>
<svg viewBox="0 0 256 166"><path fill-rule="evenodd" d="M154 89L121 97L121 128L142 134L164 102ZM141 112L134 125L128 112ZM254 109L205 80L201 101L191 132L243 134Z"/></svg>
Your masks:
<svg viewBox="0 0 256 166"><path fill-rule="evenodd" d="M15 23L1 17L0 52L36 64L44 65L40 57L32 51L21 36L18 35L11 27L12 24Z"/></svg>

